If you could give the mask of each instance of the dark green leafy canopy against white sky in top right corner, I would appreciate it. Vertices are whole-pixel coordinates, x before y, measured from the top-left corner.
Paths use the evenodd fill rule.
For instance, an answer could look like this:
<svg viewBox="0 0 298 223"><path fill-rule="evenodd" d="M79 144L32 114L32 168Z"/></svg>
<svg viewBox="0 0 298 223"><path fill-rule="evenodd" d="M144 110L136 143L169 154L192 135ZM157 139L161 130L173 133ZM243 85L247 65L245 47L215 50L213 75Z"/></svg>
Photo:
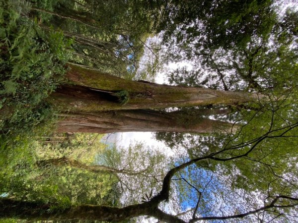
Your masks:
<svg viewBox="0 0 298 223"><path fill-rule="evenodd" d="M270 0L168 4L176 13L161 23L165 60L192 64L169 72L170 83L252 92L297 85L295 6L277 15L285 6Z"/></svg>

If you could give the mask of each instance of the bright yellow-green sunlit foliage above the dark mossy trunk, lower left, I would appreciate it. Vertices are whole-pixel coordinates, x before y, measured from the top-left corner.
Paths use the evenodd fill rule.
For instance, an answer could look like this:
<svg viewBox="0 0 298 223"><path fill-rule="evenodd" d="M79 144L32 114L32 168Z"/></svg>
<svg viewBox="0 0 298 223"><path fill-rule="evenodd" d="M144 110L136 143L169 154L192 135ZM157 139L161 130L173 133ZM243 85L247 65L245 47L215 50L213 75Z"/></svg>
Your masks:
<svg viewBox="0 0 298 223"><path fill-rule="evenodd" d="M64 140L61 140L64 138ZM109 194L117 179L108 173L92 173L70 166L38 165L40 161L66 156L92 164L105 145L102 135L52 135L41 140L28 139L14 150L0 150L0 194L4 197L48 203L48 212L57 213L78 203L112 204ZM62 142L61 142L62 141Z"/></svg>

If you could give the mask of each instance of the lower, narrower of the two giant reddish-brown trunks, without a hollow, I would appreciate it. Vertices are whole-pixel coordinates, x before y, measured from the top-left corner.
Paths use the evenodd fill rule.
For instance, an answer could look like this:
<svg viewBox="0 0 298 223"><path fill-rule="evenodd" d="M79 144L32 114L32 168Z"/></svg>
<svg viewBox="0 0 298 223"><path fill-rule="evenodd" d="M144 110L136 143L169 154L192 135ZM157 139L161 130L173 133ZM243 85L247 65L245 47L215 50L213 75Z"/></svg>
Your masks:
<svg viewBox="0 0 298 223"><path fill-rule="evenodd" d="M224 113L227 110L209 110ZM60 132L231 132L231 123L203 118L205 110L159 112L154 110L118 110L97 112L69 112L60 120ZM206 114L206 113L205 113Z"/></svg>

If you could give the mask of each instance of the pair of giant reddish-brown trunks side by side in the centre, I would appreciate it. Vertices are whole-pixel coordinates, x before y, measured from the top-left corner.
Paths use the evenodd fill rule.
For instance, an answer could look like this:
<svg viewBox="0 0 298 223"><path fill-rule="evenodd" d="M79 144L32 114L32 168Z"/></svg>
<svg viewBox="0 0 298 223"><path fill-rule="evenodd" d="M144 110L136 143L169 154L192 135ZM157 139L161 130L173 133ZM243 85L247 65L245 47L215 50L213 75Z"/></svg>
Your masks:
<svg viewBox="0 0 298 223"><path fill-rule="evenodd" d="M256 94L131 81L79 65L68 66L70 84L61 86L49 99L65 111L61 132L231 131L230 123L202 117L224 110L185 114L154 109L237 105L259 99ZM116 97L121 91L127 93L125 104Z"/></svg>

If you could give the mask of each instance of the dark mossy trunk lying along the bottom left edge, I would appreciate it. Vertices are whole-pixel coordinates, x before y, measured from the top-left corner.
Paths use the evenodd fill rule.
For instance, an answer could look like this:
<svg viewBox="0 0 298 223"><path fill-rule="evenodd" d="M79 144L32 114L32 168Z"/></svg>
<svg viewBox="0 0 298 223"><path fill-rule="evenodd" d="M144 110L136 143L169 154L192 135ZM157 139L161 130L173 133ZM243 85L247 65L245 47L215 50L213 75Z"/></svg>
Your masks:
<svg viewBox="0 0 298 223"><path fill-rule="evenodd" d="M18 218L28 221L41 220L93 220L120 222L139 216L152 216L165 220L168 223L185 223L168 215L157 208L158 202L149 201L142 204L130 205L124 208L110 206L79 205L70 207L58 213L49 212L49 204L38 202L16 201L0 198L0 219Z"/></svg>

